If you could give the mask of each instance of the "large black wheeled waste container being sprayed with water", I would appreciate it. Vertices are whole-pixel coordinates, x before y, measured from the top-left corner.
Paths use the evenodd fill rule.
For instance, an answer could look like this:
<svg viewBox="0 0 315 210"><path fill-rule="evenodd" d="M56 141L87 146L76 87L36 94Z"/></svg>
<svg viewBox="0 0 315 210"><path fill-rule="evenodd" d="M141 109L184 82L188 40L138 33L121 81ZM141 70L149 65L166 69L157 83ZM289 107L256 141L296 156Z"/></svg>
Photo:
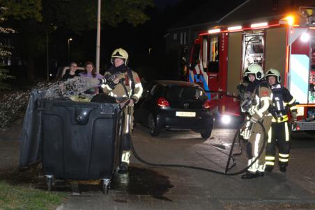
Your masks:
<svg viewBox="0 0 315 210"><path fill-rule="evenodd" d="M49 190L54 178L103 179L107 188L120 161L127 103L128 99L120 103L37 99L31 111L37 122L29 121L38 126L24 134L34 138L22 138L20 165L28 166L40 156ZM38 156L33 147L38 148Z"/></svg>

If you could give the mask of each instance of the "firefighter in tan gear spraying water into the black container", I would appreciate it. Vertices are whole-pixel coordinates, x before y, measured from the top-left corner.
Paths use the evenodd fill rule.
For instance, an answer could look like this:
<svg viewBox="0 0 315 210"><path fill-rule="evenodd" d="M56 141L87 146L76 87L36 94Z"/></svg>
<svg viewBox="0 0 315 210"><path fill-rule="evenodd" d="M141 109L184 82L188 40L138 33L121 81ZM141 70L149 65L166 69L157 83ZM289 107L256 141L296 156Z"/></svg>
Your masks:
<svg viewBox="0 0 315 210"><path fill-rule="evenodd" d="M120 172L127 172L130 159L130 140L133 125L133 106L139 101L143 88L139 76L128 66L128 53L122 48L112 53L112 66L105 72L107 83L102 86L105 93L112 97L129 97L130 103L125 106L123 141L121 143Z"/></svg>

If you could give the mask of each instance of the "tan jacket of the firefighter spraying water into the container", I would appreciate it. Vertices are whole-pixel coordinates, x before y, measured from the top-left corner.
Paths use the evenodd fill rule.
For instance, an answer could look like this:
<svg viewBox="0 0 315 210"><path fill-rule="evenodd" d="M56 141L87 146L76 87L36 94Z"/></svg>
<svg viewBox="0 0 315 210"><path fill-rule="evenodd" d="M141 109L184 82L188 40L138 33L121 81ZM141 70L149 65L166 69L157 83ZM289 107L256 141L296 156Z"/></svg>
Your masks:
<svg viewBox="0 0 315 210"><path fill-rule="evenodd" d="M135 103L139 101L143 88L136 72L130 70L130 68L125 65L120 67L112 66L105 72L104 77L109 81L103 86L103 90L106 94L112 97L130 97ZM120 82L114 84L110 82L109 78L118 78Z"/></svg>

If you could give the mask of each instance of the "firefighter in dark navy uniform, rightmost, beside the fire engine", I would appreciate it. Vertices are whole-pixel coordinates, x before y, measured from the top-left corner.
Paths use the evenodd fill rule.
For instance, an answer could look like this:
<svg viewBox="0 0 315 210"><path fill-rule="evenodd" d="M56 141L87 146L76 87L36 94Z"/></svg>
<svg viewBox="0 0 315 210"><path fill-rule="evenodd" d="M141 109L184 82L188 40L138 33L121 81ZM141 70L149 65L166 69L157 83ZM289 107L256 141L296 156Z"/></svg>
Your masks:
<svg viewBox="0 0 315 210"><path fill-rule="evenodd" d="M288 114L291 113L291 121L297 119L297 108L295 99L288 89L281 83L281 76L278 70L270 69L266 73L268 84L272 90L272 124L268 132L268 143L266 147L266 171L271 171L275 165L275 145L279 148L279 169L286 172L289 162L290 142Z"/></svg>

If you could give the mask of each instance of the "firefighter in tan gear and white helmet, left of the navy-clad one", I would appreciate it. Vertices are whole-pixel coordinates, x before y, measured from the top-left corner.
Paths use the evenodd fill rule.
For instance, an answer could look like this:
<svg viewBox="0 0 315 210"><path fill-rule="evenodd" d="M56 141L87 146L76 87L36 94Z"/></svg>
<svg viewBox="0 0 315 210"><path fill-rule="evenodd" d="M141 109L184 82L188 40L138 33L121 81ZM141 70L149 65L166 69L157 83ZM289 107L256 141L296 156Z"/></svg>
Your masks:
<svg viewBox="0 0 315 210"><path fill-rule="evenodd" d="M272 92L268 83L264 80L263 68L260 65L252 64L246 70L249 76L252 91L252 103L249 106L248 113L250 115L250 122L252 123L250 129L249 140L247 143L248 165L251 165L246 173L242 175L242 179L253 179L262 177L265 171L265 148L263 141L266 138L263 128L266 133L270 129L272 115L268 109L271 105ZM263 128L257 122L263 124ZM261 155L259 156L259 153Z"/></svg>

